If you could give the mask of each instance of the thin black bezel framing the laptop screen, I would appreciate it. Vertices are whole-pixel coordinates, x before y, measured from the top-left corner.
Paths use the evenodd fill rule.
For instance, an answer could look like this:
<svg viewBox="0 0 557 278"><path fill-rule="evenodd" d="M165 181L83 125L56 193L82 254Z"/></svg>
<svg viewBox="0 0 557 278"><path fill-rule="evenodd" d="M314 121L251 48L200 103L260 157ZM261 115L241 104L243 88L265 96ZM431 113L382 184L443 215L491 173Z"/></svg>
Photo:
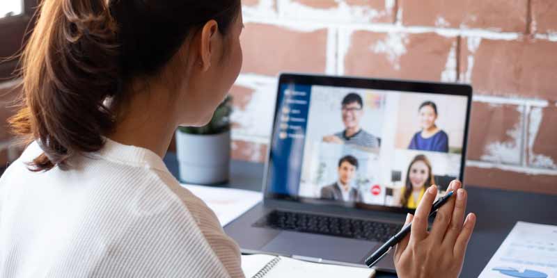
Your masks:
<svg viewBox="0 0 557 278"><path fill-rule="evenodd" d="M283 73L278 76L278 84L276 89L276 96L278 99L281 94L281 84L299 84L299 85L324 85L331 87L341 88L359 88L370 90L386 90L398 91L409 93L428 93L434 95L457 95L466 97L466 123L464 125L464 138L462 146L462 157L460 167L460 181L464 185L464 170L466 168L466 149L468 145L469 136L469 122L472 105L472 87L468 84L461 83L440 83L440 82L427 82L427 81L408 81L398 79L369 79L364 77L355 76L327 76L327 75L314 75L314 74L297 74L297 73ZM310 104L311 105L311 104ZM400 208L395 206L380 206L364 203L343 204L336 201L323 200L317 198L299 197L292 195L283 195L269 192L269 179L274 177L270 174L272 171L272 145L276 136L276 122L278 117L278 109L280 104L275 101L275 109L273 116L273 126L271 131L271 141L267 149L267 156L265 161L265 173L263 177L263 195L264 202L269 199L298 202L304 204L313 204L316 206L334 205L334 206L347 206L350 208L359 209L362 211L386 211L394 213L414 213L414 209Z"/></svg>

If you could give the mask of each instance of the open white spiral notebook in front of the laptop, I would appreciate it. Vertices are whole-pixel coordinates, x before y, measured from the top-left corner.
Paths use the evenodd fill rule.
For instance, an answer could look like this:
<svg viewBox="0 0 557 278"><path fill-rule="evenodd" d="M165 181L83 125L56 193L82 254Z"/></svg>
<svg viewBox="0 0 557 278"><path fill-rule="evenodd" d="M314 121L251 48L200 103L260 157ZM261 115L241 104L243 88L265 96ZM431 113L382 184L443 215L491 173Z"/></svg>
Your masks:
<svg viewBox="0 0 557 278"><path fill-rule="evenodd" d="M375 270L344 265L311 263L285 256L242 255L242 270L246 278L320 277L372 278Z"/></svg>

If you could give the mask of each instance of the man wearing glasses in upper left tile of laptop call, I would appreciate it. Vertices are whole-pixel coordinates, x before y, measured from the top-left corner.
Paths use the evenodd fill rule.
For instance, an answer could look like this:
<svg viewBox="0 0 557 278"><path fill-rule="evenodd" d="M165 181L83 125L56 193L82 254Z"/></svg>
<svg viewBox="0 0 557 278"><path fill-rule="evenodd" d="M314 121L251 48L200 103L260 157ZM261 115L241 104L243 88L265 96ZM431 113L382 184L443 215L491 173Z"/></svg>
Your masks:
<svg viewBox="0 0 557 278"><path fill-rule="evenodd" d="M350 92L343 99L342 119L345 126L340 131L330 136L324 136L323 142L358 145L366 148L378 148L381 140L371 133L361 129L360 121L363 116L363 101L355 92Z"/></svg>

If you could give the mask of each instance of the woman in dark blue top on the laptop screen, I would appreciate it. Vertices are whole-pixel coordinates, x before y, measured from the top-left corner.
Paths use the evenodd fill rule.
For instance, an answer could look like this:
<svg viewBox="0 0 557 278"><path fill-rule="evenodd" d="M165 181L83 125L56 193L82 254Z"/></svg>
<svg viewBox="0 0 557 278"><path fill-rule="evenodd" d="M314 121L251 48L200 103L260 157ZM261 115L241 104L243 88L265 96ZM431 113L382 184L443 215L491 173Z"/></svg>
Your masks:
<svg viewBox="0 0 557 278"><path fill-rule="evenodd" d="M419 108L421 131L412 137L408 149L429 152L448 152L447 133L435 124L437 105L433 101L425 101Z"/></svg>

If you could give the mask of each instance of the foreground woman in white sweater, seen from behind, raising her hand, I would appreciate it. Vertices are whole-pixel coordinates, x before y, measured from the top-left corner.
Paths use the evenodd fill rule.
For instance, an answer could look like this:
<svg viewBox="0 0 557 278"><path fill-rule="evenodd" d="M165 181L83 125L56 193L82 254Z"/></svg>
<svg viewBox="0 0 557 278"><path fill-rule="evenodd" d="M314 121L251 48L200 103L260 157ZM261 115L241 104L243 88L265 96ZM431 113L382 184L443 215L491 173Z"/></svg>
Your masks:
<svg viewBox="0 0 557 278"><path fill-rule="evenodd" d="M162 161L237 78L242 27L240 0L42 1L11 120L30 145L0 179L0 277L244 277L237 244ZM423 272L420 244L398 249L401 273Z"/></svg>

